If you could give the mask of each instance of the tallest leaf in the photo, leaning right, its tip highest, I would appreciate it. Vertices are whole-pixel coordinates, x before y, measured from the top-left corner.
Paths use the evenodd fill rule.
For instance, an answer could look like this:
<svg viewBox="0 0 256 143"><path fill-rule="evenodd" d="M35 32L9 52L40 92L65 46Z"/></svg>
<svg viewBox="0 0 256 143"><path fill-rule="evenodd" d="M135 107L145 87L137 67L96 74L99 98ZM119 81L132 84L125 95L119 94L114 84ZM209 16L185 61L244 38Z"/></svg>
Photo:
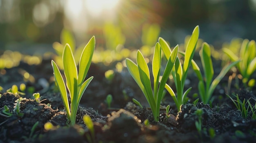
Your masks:
<svg viewBox="0 0 256 143"><path fill-rule="evenodd" d="M186 71L188 70L191 60L194 56L196 44L198 42L198 37L199 37L199 26L196 26L195 29L193 30L193 33L186 47L184 64L183 64L184 73L186 73Z"/></svg>

